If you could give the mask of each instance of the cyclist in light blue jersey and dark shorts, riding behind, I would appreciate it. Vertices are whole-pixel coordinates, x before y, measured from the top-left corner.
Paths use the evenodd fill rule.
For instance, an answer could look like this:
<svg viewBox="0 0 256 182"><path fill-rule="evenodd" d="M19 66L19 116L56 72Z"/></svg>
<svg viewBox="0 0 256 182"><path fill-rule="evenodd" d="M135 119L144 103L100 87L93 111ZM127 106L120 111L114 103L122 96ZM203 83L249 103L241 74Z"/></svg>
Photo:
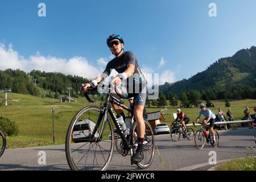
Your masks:
<svg viewBox="0 0 256 182"><path fill-rule="evenodd" d="M205 125L208 122L210 122L209 130L210 130L210 133L212 133L212 136L213 136L213 143L215 143L216 139L215 139L215 134L214 134L214 131L213 131L213 126L214 126L216 116L212 113L211 110L206 108L204 103L200 104L200 108L201 108L201 110L200 110L200 112L199 112L199 114L196 118L196 122L199 121L202 114L206 117L203 122L204 122ZM207 139L207 143L209 143L209 139Z"/></svg>

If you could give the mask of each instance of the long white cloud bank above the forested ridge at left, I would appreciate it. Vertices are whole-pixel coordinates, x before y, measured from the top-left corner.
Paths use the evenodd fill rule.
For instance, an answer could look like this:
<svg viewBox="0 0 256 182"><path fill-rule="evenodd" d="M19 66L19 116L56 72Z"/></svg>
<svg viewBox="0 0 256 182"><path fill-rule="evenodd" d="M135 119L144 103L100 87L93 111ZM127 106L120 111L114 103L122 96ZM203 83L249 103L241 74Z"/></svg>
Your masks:
<svg viewBox="0 0 256 182"><path fill-rule="evenodd" d="M104 63L104 62L100 62ZM77 75L85 78L94 78L101 73L100 69L89 64L85 57L74 56L71 59L62 59L53 56L41 56L39 52L24 59L13 47L6 48L0 44L0 69L20 69L30 72L33 69L46 72L61 72L65 75Z"/></svg>

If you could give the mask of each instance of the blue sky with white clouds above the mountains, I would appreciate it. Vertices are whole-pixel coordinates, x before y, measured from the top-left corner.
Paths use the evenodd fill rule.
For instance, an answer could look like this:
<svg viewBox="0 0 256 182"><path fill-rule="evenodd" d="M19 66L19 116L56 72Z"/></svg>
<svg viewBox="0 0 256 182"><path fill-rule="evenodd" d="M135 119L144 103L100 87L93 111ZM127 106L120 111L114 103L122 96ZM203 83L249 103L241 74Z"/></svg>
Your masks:
<svg viewBox="0 0 256 182"><path fill-rule="evenodd" d="M38 16L41 2L46 17ZM217 17L208 14L212 2ZM123 36L144 72L159 73L160 83L189 78L256 46L254 0L10 0L0 2L0 23L0 69L84 77L112 59L106 46L112 33Z"/></svg>

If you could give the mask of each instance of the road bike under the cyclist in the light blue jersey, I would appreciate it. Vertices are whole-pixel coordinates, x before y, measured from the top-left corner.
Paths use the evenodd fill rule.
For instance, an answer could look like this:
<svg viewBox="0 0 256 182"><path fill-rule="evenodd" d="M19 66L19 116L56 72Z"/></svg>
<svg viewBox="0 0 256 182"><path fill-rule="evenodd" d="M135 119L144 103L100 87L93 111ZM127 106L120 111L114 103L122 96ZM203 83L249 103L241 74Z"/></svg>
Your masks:
<svg viewBox="0 0 256 182"><path fill-rule="evenodd" d="M218 144L220 143L220 137L218 135L218 132L216 130L213 130L215 134L215 142L214 142L213 136L210 130L209 130L209 133L207 133L207 131L205 130L205 127L206 127L205 124L203 122L200 124L201 124L200 130L197 130L195 134L196 147L198 149L204 148L205 140L207 140L207 143L210 142L210 144L212 144L212 147L218 147ZM193 122L193 125L196 126L195 122Z"/></svg>

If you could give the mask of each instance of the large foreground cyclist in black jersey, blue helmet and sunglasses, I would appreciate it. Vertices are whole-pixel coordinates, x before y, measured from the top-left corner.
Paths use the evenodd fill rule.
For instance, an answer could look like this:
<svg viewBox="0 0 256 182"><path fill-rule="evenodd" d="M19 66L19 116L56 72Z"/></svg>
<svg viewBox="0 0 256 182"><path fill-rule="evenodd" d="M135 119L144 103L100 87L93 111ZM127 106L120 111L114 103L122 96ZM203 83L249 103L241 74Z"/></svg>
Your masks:
<svg viewBox="0 0 256 182"><path fill-rule="evenodd" d="M143 160L143 140L145 125L143 119L143 109L146 102L146 79L139 68L137 58L130 51L124 51L124 41L122 37L118 34L112 34L106 40L110 51L115 55L114 59L110 60L106 65L105 71L94 80L85 84L82 88L82 91L85 92L87 88L95 88L98 85L98 82L103 81L106 77L110 75L112 69L115 69L119 74L112 80L112 83L116 86L121 85L122 81L127 81L127 85L133 84L133 88L136 86L139 87L139 92L128 93L128 97L134 97L134 117L137 121L137 135L138 135L138 147L131 158L132 162L139 163ZM130 76L133 76L133 81L130 83ZM129 78L129 79L127 79ZM129 82L128 82L129 81ZM123 82L122 82L123 83ZM129 90L130 91L130 90ZM122 116L125 118L122 107L117 105L112 105L115 112L118 114L117 117Z"/></svg>

